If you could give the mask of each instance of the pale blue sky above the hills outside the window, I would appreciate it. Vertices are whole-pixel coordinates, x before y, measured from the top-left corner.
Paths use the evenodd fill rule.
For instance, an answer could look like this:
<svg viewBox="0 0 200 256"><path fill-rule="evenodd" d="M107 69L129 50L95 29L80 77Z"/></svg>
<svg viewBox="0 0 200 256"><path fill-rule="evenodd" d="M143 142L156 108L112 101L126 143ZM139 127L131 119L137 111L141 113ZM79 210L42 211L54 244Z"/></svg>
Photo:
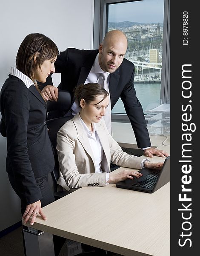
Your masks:
<svg viewBox="0 0 200 256"><path fill-rule="evenodd" d="M109 5L109 22L163 23L164 0L142 0Z"/></svg>

